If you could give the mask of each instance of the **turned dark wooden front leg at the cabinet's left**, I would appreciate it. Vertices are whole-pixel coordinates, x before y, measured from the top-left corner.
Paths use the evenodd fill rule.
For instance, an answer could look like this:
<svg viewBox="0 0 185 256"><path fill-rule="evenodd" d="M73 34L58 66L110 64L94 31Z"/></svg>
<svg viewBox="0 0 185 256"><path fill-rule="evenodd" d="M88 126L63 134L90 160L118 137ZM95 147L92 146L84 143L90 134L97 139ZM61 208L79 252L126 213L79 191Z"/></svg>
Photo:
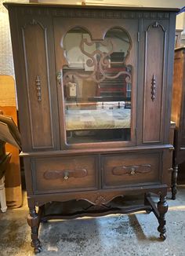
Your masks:
<svg viewBox="0 0 185 256"><path fill-rule="evenodd" d="M27 216L27 223L31 227L31 247L34 247L34 253L42 251L41 243L38 240L39 219L35 208L30 208Z"/></svg>

